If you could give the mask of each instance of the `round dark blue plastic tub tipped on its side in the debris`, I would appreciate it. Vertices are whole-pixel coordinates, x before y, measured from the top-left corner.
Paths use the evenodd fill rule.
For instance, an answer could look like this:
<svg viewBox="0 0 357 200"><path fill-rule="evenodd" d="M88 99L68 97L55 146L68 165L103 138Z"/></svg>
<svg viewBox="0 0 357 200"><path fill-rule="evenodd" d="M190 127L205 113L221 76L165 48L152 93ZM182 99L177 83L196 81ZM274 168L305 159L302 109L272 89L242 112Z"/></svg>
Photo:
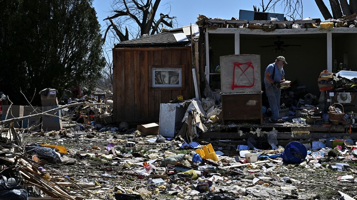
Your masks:
<svg viewBox="0 0 357 200"><path fill-rule="evenodd" d="M286 163L301 163L307 155L306 147L300 142L290 142L281 153L283 161Z"/></svg>

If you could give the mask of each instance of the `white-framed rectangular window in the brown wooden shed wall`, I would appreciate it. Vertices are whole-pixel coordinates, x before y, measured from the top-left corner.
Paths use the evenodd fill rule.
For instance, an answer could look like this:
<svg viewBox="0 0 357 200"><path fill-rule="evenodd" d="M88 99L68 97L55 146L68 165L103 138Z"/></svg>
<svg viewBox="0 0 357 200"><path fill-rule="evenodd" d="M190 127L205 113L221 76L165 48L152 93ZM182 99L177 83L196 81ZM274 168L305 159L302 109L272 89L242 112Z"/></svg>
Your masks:
<svg viewBox="0 0 357 200"><path fill-rule="evenodd" d="M153 87L181 87L181 68L152 68Z"/></svg>

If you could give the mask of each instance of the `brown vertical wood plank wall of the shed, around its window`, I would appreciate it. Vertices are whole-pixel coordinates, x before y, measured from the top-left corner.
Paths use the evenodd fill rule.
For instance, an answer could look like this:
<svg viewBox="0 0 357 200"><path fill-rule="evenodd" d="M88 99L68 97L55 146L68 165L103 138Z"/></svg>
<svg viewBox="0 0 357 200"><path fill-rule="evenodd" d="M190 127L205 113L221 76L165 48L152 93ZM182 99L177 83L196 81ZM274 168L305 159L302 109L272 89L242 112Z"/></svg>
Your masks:
<svg viewBox="0 0 357 200"><path fill-rule="evenodd" d="M114 121L159 122L160 103L183 95L194 97L191 48L114 48L113 87ZM184 90L151 90L150 65L184 65Z"/></svg>

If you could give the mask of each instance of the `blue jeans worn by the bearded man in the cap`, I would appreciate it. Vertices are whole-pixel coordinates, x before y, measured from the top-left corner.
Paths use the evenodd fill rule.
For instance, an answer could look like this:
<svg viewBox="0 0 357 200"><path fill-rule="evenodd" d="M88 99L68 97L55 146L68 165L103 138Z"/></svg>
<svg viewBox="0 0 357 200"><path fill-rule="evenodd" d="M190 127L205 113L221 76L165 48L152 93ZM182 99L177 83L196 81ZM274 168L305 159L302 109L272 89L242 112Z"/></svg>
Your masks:
<svg viewBox="0 0 357 200"><path fill-rule="evenodd" d="M269 106L271 109L271 120L276 121L279 118L279 108L280 108L280 90L276 89L274 86L265 85L265 92L268 97Z"/></svg>

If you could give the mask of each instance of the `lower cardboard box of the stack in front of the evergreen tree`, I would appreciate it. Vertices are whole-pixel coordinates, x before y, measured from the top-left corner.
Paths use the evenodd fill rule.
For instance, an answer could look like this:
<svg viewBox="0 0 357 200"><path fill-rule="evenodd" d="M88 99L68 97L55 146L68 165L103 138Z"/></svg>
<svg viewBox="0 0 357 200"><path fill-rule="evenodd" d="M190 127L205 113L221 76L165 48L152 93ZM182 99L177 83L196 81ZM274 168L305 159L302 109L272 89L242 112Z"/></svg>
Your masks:
<svg viewBox="0 0 357 200"><path fill-rule="evenodd" d="M42 106L42 112L49 111L57 108L58 106ZM56 114L55 114L56 113ZM49 112L51 115L62 117L61 110ZM42 130L46 131L59 131L62 128L62 120L54 116L42 116Z"/></svg>

